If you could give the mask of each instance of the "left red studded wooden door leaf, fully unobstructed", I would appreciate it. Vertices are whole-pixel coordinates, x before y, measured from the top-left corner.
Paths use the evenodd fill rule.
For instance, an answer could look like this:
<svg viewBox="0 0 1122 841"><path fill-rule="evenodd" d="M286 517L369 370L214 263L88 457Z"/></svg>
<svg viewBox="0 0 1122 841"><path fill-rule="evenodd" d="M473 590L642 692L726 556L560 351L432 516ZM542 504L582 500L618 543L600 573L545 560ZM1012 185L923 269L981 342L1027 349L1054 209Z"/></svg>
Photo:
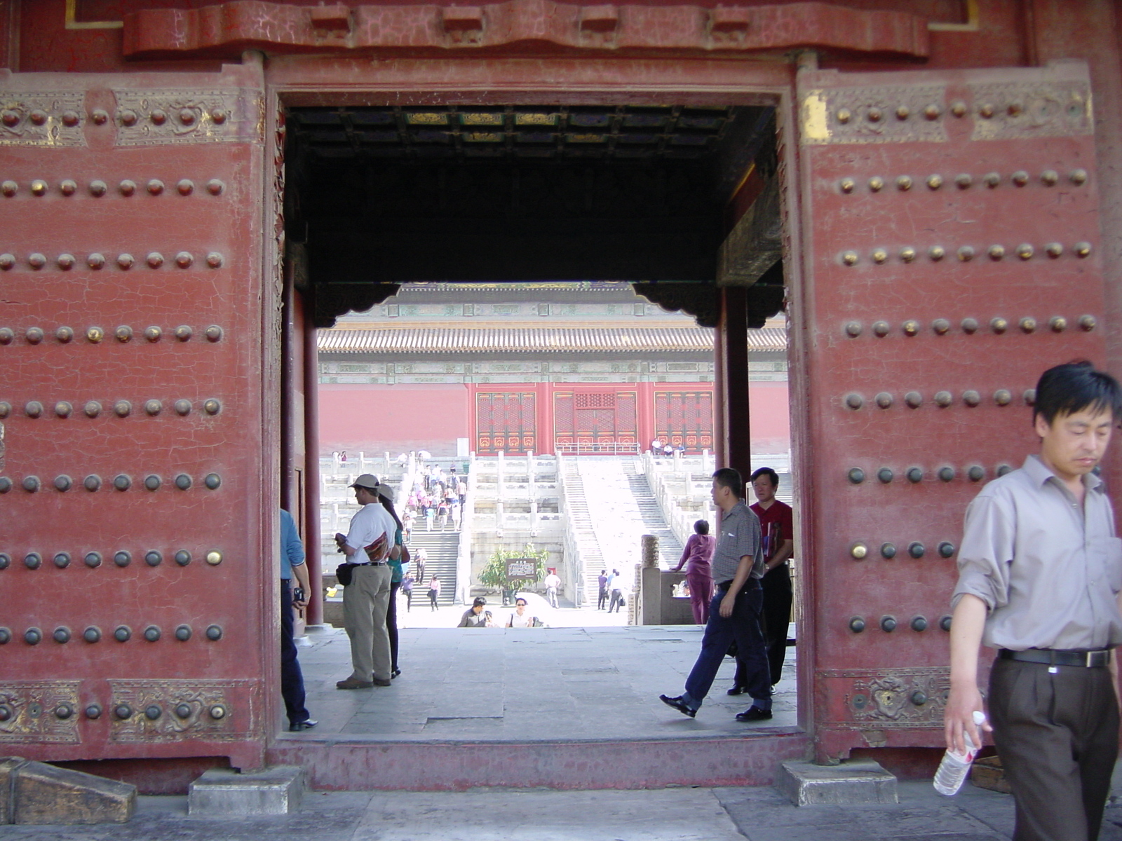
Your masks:
<svg viewBox="0 0 1122 841"><path fill-rule="evenodd" d="M261 760L261 87L0 75L0 752Z"/></svg>

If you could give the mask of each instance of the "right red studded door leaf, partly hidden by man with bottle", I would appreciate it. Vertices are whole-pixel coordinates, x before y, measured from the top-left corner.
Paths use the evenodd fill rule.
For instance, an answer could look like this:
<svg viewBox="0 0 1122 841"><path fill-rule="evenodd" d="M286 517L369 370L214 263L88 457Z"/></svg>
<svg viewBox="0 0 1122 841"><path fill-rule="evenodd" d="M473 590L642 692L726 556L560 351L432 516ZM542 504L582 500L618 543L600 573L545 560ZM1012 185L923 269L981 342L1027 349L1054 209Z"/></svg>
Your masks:
<svg viewBox="0 0 1122 841"><path fill-rule="evenodd" d="M966 505L1036 450L1040 372L1103 361L1089 91L1078 63L800 74L821 758L942 742Z"/></svg>

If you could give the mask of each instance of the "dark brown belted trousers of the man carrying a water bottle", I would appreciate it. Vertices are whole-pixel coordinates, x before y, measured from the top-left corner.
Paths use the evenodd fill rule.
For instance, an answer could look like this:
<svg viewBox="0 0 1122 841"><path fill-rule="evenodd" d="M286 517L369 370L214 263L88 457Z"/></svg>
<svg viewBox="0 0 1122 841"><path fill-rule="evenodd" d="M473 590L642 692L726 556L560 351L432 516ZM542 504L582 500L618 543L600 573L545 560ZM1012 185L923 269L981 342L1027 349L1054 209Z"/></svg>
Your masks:
<svg viewBox="0 0 1122 841"><path fill-rule="evenodd" d="M1109 668L996 659L993 740L1017 802L1013 841L1095 841L1119 752Z"/></svg>

